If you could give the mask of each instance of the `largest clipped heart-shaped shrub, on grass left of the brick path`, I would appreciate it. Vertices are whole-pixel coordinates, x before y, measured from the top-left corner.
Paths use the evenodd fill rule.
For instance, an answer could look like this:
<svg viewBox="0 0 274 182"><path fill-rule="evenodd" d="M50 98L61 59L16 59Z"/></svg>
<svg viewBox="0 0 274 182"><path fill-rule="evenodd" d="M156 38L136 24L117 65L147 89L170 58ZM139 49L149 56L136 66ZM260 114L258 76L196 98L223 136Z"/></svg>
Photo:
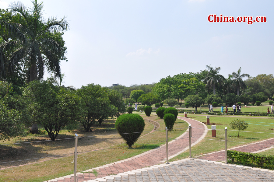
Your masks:
<svg viewBox="0 0 274 182"><path fill-rule="evenodd" d="M141 132L144 131L145 120L139 114L123 114L115 121L115 128L119 134L131 133L121 135L128 148L131 148L131 145L137 141L142 134Z"/></svg>

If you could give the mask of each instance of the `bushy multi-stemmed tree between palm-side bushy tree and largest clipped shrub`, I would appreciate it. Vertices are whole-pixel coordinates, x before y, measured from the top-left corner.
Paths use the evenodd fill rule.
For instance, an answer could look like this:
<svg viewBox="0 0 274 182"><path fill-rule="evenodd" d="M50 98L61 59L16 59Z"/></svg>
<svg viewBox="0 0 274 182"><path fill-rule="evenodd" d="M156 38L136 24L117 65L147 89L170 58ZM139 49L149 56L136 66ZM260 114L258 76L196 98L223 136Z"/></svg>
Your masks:
<svg viewBox="0 0 274 182"><path fill-rule="evenodd" d="M80 96L83 103L80 123L84 126L86 132L90 130L90 127L96 120L101 125L105 119L117 114L118 109L111 104L111 100L109 99L111 95L108 94L107 88L92 83L77 89L76 93ZM112 99L114 100L115 97ZM118 102L119 105L121 102L121 100Z"/></svg>

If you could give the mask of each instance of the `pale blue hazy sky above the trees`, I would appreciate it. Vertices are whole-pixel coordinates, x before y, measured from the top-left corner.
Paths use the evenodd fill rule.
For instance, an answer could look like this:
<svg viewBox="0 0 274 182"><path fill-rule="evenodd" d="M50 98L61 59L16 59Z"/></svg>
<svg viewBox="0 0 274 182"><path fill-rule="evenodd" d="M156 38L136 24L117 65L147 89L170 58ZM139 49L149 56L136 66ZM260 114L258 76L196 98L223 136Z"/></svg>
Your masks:
<svg viewBox="0 0 274 182"><path fill-rule="evenodd" d="M9 8L1 0L0 8ZM30 0L20 1L31 6ZM41 2L37 0L37 2ZM272 74L273 0L44 0L44 18L66 16L65 86L130 86L200 72ZM208 16L265 16L266 22L209 22ZM212 18L210 19L212 20ZM44 79L49 76L45 74Z"/></svg>

